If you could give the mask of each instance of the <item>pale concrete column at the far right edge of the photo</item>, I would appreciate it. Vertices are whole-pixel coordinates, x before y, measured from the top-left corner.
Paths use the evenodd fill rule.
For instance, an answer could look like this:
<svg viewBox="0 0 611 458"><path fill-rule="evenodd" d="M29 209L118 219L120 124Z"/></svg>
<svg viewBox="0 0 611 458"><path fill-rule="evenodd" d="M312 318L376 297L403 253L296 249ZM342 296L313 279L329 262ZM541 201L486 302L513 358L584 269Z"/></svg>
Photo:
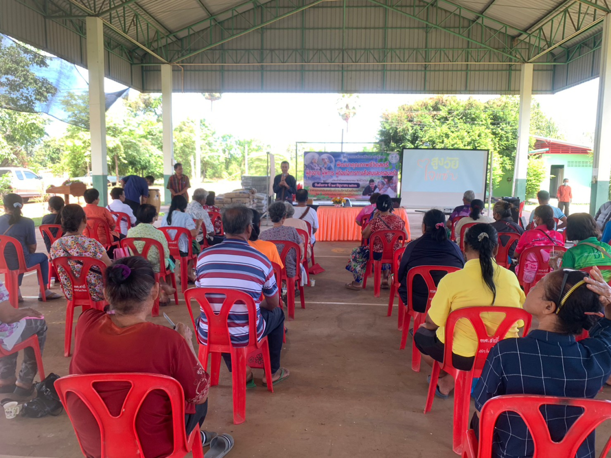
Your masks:
<svg viewBox="0 0 611 458"><path fill-rule="evenodd" d="M609 200L611 175L611 15L607 14L602 29L601 72L598 83L598 109L594 136L590 213ZM570 177L565 177L570 178Z"/></svg>

